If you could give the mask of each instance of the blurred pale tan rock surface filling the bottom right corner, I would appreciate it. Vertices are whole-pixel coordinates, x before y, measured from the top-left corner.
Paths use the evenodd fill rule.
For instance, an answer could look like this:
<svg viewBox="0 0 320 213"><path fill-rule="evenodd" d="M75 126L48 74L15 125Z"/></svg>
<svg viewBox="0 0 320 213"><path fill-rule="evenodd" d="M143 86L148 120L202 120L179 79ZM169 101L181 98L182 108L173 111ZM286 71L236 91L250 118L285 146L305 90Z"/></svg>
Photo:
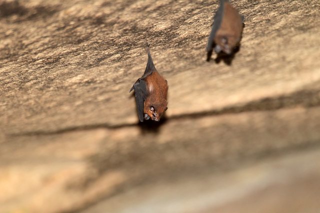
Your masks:
<svg viewBox="0 0 320 213"><path fill-rule="evenodd" d="M293 152L223 173L145 184L81 213L318 212L319 157L319 150Z"/></svg>

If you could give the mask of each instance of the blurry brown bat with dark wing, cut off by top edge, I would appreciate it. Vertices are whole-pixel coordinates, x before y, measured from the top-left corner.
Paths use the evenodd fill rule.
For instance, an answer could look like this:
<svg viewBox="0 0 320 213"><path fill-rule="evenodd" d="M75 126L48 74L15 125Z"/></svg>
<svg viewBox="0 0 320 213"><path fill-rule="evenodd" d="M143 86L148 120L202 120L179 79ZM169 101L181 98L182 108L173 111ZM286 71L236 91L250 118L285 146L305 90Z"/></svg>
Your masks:
<svg viewBox="0 0 320 213"><path fill-rule="evenodd" d="M212 30L209 35L206 51L231 54L241 39L243 16L232 7L228 0L221 0L214 15Z"/></svg>

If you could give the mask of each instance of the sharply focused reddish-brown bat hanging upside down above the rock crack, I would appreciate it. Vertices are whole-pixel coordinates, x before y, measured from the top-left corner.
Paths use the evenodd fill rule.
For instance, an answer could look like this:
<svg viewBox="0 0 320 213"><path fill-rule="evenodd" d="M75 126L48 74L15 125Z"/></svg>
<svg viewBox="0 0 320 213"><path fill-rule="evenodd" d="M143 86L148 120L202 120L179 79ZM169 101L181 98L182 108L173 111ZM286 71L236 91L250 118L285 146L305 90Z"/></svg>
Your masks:
<svg viewBox="0 0 320 213"><path fill-rule="evenodd" d="M136 108L141 122L143 119L159 121L162 113L167 109L168 84L153 64L151 54L148 50L148 62L145 71L133 84L129 92L134 89Z"/></svg>

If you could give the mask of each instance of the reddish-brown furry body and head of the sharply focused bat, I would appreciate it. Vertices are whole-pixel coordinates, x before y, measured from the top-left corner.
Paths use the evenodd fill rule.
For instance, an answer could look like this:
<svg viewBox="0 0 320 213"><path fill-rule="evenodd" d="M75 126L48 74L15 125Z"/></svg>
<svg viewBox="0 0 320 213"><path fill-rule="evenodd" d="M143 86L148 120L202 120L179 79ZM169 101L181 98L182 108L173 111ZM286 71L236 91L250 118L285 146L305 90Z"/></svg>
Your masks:
<svg viewBox="0 0 320 213"><path fill-rule="evenodd" d="M166 97L168 93L168 84L166 80L157 72L153 71L144 78L146 83L147 96L144 99L143 112L147 113L151 119L159 120L163 111L166 110ZM154 107L154 111L150 107ZM152 116L155 113L155 117Z"/></svg>

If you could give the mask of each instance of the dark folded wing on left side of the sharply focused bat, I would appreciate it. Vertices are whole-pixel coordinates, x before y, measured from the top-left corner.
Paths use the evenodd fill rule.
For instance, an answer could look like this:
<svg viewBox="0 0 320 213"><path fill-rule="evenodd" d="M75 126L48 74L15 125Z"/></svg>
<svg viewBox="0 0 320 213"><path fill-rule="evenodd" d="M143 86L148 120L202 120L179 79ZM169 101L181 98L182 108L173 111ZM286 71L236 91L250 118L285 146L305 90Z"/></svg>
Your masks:
<svg viewBox="0 0 320 213"><path fill-rule="evenodd" d="M141 122L143 122L143 104L144 98L146 96L146 84L143 79L138 79L130 89L132 91L134 89L135 101L136 101L136 109L138 111L138 116Z"/></svg>

